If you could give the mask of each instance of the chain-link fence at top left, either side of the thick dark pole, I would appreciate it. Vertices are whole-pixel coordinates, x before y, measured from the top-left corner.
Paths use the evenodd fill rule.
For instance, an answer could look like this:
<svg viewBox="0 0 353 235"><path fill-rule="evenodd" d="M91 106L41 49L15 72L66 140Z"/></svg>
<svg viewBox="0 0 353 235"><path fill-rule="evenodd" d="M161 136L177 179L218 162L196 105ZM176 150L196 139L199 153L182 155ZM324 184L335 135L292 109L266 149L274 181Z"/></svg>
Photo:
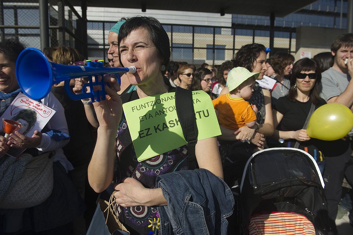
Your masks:
<svg viewBox="0 0 353 235"><path fill-rule="evenodd" d="M72 46L83 52L82 18L65 0L48 1L49 45ZM0 1L0 40L15 37L28 47L40 48L38 2Z"/></svg>

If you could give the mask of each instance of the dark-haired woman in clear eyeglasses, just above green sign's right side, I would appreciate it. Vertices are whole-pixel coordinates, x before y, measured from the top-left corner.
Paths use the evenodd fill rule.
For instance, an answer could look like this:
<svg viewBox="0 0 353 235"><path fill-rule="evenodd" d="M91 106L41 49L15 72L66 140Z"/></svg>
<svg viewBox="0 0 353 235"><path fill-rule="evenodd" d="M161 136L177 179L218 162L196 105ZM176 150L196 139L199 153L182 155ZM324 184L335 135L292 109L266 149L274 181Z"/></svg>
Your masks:
<svg viewBox="0 0 353 235"><path fill-rule="evenodd" d="M200 67L193 74L191 90L203 90L211 96L211 99L216 99L218 95L211 92L212 72L209 69Z"/></svg>

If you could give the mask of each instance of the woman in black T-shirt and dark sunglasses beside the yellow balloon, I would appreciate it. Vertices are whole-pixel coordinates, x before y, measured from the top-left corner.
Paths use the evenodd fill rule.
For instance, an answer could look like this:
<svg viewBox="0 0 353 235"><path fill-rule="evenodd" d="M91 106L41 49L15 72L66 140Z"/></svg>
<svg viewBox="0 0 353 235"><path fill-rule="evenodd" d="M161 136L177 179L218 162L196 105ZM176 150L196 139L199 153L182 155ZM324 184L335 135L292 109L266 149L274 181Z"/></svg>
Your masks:
<svg viewBox="0 0 353 235"><path fill-rule="evenodd" d="M277 100L273 110L273 123L276 129L271 138L275 140L283 138L286 147L294 147L298 141L299 149L308 152L321 162L324 158L322 152L324 141L310 138L303 129L311 104L315 105L315 109L326 104L319 96L321 74L318 71L319 66L309 58L298 60L294 64L289 93ZM319 168L323 172L320 164Z"/></svg>

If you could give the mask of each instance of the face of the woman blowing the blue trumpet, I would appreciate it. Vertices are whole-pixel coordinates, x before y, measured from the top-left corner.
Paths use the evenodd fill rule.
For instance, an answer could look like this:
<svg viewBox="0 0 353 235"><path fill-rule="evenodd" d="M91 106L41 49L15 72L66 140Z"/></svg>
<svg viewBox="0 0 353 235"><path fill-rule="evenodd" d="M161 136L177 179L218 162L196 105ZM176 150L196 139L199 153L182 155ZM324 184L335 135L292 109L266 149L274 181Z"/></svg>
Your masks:
<svg viewBox="0 0 353 235"><path fill-rule="evenodd" d="M162 76L160 68L163 61L146 29L131 31L121 42L119 50L122 64L125 67L136 67L134 74L127 73L132 85L154 83L158 76Z"/></svg>

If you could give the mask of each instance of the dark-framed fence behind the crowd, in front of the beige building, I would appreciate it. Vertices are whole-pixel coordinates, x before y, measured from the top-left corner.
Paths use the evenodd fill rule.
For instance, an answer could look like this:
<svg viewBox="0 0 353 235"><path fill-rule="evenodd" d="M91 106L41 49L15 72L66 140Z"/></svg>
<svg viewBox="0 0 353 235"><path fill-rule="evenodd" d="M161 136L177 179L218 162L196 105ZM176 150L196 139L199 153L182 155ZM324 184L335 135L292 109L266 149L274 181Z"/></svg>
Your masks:
<svg viewBox="0 0 353 235"><path fill-rule="evenodd" d="M88 59L107 60L108 33L116 22L89 21L87 23ZM195 65L221 64L231 60L241 46L261 43L270 47L270 31L163 24L172 51L171 60ZM275 31L274 51L295 53L295 33Z"/></svg>

